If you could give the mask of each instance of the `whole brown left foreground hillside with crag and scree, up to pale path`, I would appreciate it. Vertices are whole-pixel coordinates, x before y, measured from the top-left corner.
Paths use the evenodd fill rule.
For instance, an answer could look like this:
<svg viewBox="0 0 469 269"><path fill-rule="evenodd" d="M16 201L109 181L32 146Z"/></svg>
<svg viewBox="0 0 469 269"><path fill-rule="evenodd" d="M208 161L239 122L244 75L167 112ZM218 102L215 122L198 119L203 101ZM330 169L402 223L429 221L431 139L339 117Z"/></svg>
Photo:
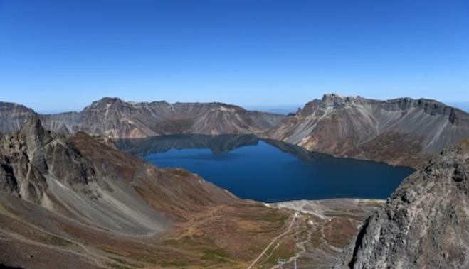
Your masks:
<svg viewBox="0 0 469 269"><path fill-rule="evenodd" d="M37 116L0 136L0 264L243 267L286 229L286 210L100 141L45 131Z"/></svg>

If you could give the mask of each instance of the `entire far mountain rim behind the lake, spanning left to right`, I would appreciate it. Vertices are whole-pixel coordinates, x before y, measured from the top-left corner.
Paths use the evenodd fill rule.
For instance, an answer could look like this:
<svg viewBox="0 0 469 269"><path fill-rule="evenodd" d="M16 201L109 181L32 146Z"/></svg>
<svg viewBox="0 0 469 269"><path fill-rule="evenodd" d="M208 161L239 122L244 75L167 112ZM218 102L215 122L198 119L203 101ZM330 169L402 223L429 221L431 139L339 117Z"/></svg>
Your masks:
<svg viewBox="0 0 469 269"><path fill-rule="evenodd" d="M18 130L31 114L26 106L0 103L0 131ZM40 117L46 129L58 133L84 131L108 138L254 134L318 153L414 168L469 137L469 114L438 101L337 94L325 94L288 116L221 103L137 103L106 97L80 112Z"/></svg>

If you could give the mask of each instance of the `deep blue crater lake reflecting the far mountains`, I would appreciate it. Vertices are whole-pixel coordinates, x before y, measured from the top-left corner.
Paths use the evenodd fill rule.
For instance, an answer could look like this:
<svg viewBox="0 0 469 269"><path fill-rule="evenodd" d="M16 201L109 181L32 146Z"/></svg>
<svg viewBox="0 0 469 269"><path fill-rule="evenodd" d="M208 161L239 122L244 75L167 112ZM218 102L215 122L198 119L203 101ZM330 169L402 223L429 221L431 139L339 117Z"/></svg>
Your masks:
<svg viewBox="0 0 469 269"><path fill-rule="evenodd" d="M196 143L158 138L134 153L164 168L186 168L238 197L263 202L339 197L386 199L413 172L406 167L310 153L258 138ZM215 138L213 138L215 139ZM240 142L241 141L241 142ZM226 145L222 145L226 143ZM216 146L214 146L216 145ZM223 148L223 146L226 146ZM130 150L132 151L132 150Z"/></svg>

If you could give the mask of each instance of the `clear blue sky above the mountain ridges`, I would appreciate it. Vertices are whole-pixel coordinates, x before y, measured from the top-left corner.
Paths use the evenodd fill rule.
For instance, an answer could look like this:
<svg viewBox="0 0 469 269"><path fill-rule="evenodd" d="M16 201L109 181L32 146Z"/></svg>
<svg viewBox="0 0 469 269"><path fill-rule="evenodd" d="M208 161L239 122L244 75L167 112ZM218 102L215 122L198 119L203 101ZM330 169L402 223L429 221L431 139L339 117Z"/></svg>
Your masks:
<svg viewBox="0 0 469 269"><path fill-rule="evenodd" d="M0 100L469 101L469 1L0 0Z"/></svg>

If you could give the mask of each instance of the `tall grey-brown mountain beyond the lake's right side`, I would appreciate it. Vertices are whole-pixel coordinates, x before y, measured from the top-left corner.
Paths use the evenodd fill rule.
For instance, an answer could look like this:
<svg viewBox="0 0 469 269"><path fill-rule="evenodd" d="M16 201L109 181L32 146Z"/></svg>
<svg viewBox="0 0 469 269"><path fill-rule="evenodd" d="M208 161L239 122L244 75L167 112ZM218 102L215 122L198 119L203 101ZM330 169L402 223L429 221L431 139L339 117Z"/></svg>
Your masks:
<svg viewBox="0 0 469 269"><path fill-rule="evenodd" d="M467 138L469 114L428 99L326 94L263 136L320 153L416 167Z"/></svg>

